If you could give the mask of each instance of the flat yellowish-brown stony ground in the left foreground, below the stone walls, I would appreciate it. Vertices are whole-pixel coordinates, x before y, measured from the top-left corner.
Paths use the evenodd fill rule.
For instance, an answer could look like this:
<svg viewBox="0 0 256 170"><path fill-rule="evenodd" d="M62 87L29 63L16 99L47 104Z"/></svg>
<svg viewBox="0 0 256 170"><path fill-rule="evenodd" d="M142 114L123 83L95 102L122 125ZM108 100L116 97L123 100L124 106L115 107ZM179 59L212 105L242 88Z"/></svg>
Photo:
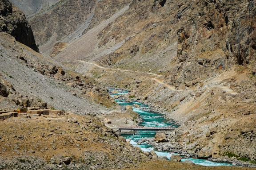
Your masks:
<svg viewBox="0 0 256 170"><path fill-rule="evenodd" d="M17 168L15 160L20 160L18 167L25 169L49 165L99 169L129 166L147 159L92 116L18 116L1 120L0 131L0 167L4 169ZM30 158L43 163L34 165Z"/></svg>

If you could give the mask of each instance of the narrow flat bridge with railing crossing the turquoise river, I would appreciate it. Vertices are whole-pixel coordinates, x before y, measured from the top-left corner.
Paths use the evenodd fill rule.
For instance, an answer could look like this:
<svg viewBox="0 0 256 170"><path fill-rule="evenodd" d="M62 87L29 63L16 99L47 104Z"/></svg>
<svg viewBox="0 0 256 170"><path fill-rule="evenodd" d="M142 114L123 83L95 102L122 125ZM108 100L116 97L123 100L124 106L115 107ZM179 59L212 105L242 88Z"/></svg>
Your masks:
<svg viewBox="0 0 256 170"><path fill-rule="evenodd" d="M173 127L144 127L144 126L132 126L132 127L119 127L116 133L118 134L135 134L136 131L174 131ZM121 130L131 130L122 132Z"/></svg>

